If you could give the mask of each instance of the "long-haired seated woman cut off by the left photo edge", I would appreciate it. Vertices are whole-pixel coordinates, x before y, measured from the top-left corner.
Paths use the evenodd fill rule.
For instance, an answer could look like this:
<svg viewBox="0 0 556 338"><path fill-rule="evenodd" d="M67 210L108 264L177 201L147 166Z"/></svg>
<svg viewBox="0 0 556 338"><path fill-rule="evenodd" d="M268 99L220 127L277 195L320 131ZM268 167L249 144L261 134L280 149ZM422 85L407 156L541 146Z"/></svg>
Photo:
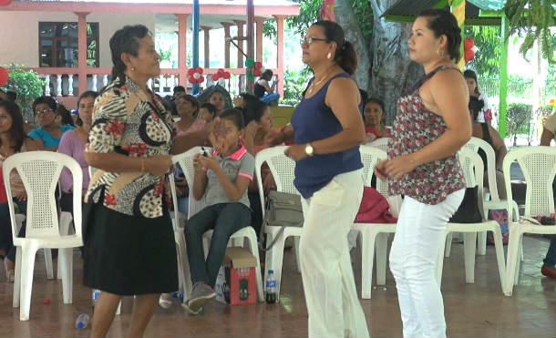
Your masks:
<svg viewBox="0 0 556 338"><path fill-rule="evenodd" d="M42 149L39 141L26 136L23 129L23 117L19 107L10 101L0 101L0 166L9 156L18 152ZM10 184L17 213L26 214L27 194L23 181L15 170L10 172ZM4 189L4 187L2 187ZM25 225L19 231L25 236ZM8 282L15 278L15 247L12 240L12 226L7 201L0 202L0 255L4 260L5 275Z"/></svg>

